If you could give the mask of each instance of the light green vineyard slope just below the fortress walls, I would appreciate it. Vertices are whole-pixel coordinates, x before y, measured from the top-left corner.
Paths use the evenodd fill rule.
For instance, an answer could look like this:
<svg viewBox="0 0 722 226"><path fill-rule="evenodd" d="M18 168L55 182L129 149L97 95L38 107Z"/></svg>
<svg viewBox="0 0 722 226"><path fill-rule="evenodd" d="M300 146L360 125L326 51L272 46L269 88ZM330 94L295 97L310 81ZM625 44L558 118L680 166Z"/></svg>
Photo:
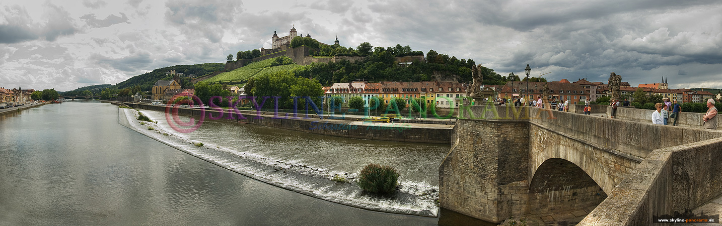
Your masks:
<svg viewBox="0 0 722 226"><path fill-rule="evenodd" d="M278 71L290 71L293 68L300 67L300 65L297 64L271 66L271 64L274 63L274 60L276 60L276 58L261 60L256 63L251 63L241 68L237 68L233 71L219 73L217 76L213 76L212 78L204 80L204 82L245 83L245 81L248 81L248 78L251 78L253 76L260 76L266 73L274 73Z"/></svg>

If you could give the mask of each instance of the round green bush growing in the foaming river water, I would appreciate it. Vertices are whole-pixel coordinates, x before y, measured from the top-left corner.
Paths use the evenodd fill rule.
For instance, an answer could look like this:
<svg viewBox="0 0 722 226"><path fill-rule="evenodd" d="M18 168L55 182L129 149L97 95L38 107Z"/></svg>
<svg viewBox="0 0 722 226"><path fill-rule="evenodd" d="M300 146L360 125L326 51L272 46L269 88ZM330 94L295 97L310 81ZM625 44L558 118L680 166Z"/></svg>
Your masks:
<svg viewBox="0 0 722 226"><path fill-rule="evenodd" d="M401 174L391 166L371 163L361 170L358 184L361 189L370 193L391 193L396 188L399 176Z"/></svg>

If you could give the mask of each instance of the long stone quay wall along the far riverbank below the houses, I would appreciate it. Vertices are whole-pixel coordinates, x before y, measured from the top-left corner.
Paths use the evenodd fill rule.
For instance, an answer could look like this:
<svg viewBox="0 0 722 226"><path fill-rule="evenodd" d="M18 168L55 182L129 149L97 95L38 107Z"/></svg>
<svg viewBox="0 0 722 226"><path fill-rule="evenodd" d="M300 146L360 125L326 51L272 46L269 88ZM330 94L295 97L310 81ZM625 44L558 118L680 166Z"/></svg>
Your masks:
<svg viewBox="0 0 722 226"><path fill-rule="evenodd" d="M118 102L116 104L126 104L135 109L148 109L154 111L165 112L167 107L165 105L158 106L152 104L140 104L140 103L127 103ZM173 108L170 110L177 110L177 112L170 112L169 114L185 114L191 117L199 117L201 114L212 115L219 117L219 112L212 109L192 109L192 108ZM235 110L233 111L235 112ZM453 136L453 126L443 125L424 125L424 124L412 124L412 123L385 123L385 122L363 122L363 121L352 121L344 119L331 119L329 116L319 117L316 114L309 113L308 115L302 114L299 110L298 117L291 117L292 113L278 112L277 115L274 112L256 112L256 111L245 111L238 110L242 117L238 115L231 116L227 109L224 112L224 116L220 119L227 120L228 122L240 122L251 125L262 125L266 127L276 127L287 130L297 130L303 132L311 132L322 135L334 135L339 137L353 137L369 140L391 140L391 141L402 141L402 142L417 142L417 143L444 143L451 144L451 137ZM288 114L288 116L287 116ZM169 122L170 123L170 122Z"/></svg>

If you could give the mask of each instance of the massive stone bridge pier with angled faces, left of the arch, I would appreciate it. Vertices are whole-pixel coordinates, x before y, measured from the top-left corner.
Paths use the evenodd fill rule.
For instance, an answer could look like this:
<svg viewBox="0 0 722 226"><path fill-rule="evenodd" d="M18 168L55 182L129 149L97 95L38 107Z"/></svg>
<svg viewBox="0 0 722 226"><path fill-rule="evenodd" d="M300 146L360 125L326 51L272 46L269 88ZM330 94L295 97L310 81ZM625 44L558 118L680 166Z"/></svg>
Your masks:
<svg viewBox="0 0 722 226"><path fill-rule="evenodd" d="M521 213L529 123L458 119L456 126L458 143L439 168L441 207L490 222Z"/></svg>

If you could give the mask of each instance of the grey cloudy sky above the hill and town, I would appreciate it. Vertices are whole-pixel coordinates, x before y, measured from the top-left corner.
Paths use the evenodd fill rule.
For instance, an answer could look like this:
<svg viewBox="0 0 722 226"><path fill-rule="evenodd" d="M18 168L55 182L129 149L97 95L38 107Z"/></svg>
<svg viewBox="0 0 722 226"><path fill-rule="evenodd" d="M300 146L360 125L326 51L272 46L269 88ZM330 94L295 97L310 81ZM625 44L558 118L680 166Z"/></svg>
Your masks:
<svg viewBox="0 0 722 226"><path fill-rule="evenodd" d="M0 86L69 91L155 68L225 63L291 26L321 42L410 45L505 76L722 88L722 1L10 0Z"/></svg>

